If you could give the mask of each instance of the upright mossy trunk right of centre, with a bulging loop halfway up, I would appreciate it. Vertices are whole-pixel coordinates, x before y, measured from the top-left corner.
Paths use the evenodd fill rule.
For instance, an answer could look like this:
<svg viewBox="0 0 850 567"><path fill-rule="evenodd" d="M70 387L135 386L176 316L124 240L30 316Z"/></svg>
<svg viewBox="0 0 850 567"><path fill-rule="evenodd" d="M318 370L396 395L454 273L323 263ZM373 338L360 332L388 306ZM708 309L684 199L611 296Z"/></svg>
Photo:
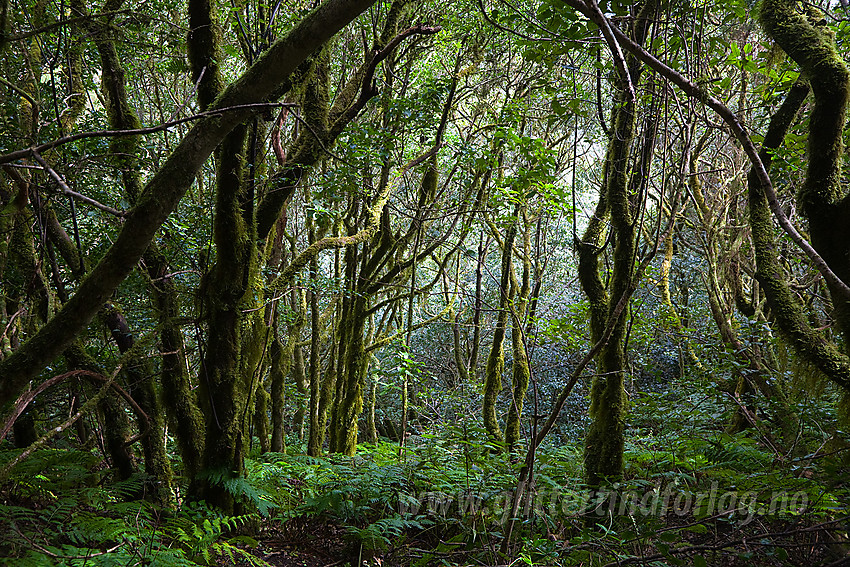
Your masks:
<svg viewBox="0 0 850 567"><path fill-rule="evenodd" d="M637 17L630 29L637 43L647 35L655 3L648 0L638 7ZM605 331L609 317L614 313L620 298L627 295L633 285L636 223L633 214L634 189L640 185L640 176L646 175L641 166L632 167L631 150L635 140L636 100L633 89L639 85L641 65L633 57L626 61L631 80L619 76L614 88L612 132L605 158L602 193L594 215L578 244L579 280L590 303L591 341L598 342ZM644 149L651 151L652 140L646 140ZM599 255L604 242L605 220L610 220L612 268L607 286L603 283ZM596 376L590 392L591 425L585 439L584 466L587 482L598 487L605 482L619 480L623 474L624 420L626 414L625 339L628 305L614 323L607 343L596 358Z"/></svg>

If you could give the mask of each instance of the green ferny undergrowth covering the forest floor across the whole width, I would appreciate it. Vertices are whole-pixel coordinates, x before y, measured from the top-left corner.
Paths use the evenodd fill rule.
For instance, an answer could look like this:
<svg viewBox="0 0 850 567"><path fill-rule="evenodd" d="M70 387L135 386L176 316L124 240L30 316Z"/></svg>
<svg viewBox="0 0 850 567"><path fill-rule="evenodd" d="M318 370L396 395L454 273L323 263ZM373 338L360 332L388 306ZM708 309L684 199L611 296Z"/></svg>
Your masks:
<svg viewBox="0 0 850 567"><path fill-rule="evenodd" d="M355 558L385 565L828 564L846 527L846 442L827 413L806 413L797 447L757 430L731 435L720 394L633 400L626 475L589 491L582 448L540 448L535 484L511 503L521 454L510 458L474 424L409 442L361 445L354 457L302 447L252 455L246 475L211 474L250 513L139 500L149 479L116 482L93 452L41 449L0 487L0 557L37 565L268 565L272 528L338 526ZM827 433L831 431L831 433ZM18 450L0 451L0 467ZM505 554L507 552L507 554ZM344 563L341 563L344 564Z"/></svg>

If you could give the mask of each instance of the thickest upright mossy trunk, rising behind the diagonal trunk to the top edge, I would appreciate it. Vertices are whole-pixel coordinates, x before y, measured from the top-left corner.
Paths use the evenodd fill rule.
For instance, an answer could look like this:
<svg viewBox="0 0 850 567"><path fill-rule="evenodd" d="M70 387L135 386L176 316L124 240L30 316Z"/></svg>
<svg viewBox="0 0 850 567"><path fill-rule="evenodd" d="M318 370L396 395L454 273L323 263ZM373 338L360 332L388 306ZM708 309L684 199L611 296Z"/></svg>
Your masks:
<svg viewBox="0 0 850 567"><path fill-rule="evenodd" d="M189 2L189 61L198 80L201 109L221 94L223 80L219 34L208 0ZM249 128L237 125L216 150L213 243L215 263L204 274L201 302L207 323L201 363L199 402L205 418L201 467L192 479L192 497L206 500L225 513L237 503L224 482L240 476L247 444L247 412L252 399L251 376L243 365L245 341L252 338L252 320L243 316L250 301L257 265L253 194L248 184ZM253 415L253 414L252 414Z"/></svg>

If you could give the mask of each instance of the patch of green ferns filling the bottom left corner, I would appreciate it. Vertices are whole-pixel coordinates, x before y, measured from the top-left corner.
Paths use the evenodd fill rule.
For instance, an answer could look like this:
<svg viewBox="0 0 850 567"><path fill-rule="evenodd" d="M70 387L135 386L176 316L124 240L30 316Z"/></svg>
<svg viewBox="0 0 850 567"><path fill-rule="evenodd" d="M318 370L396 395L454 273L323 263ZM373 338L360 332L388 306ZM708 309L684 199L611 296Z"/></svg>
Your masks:
<svg viewBox="0 0 850 567"><path fill-rule="evenodd" d="M15 453L5 450L0 460ZM259 516L228 517L203 505L159 509L131 500L148 480L143 475L103 484L106 476L91 453L33 454L2 489L0 556L27 566L267 565L250 552L258 542L239 533Z"/></svg>

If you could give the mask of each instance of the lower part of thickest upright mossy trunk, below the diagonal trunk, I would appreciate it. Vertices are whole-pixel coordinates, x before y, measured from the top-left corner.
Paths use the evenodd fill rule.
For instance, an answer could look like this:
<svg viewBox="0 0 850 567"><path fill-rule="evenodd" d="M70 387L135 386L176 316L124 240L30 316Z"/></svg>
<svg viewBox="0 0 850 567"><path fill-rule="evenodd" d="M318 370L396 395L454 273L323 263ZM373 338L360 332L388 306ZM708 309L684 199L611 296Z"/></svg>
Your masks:
<svg viewBox="0 0 850 567"><path fill-rule="evenodd" d="M254 226L246 222L246 217L253 218L253 203L246 198L245 185L247 137L247 127L237 126L217 150L213 219L216 261L202 298L209 322L199 381L206 441L193 496L227 513L237 511L239 505L213 478L217 474L242 474L246 408L253 399L254 370L264 348L257 322L261 311L243 316L244 308L253 306L256 299L253 285L257 274Z"/></svg>

